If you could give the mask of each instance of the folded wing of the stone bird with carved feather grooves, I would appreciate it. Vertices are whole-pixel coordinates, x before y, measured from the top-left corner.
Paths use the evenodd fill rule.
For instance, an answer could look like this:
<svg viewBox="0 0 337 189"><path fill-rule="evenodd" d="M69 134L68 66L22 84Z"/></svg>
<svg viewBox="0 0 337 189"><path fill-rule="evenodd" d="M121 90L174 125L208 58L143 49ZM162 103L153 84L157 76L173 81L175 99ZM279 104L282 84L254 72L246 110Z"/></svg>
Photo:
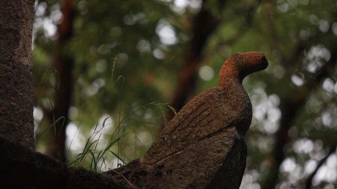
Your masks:
<svg viewBox="0 0 337 189"><path fill-rule="evenodd" d="M223 101L217 87L207 89L193 98L163 129L141 161L146 164L159 162L190 144L224 129L235 128L231 112Z"/></svg>

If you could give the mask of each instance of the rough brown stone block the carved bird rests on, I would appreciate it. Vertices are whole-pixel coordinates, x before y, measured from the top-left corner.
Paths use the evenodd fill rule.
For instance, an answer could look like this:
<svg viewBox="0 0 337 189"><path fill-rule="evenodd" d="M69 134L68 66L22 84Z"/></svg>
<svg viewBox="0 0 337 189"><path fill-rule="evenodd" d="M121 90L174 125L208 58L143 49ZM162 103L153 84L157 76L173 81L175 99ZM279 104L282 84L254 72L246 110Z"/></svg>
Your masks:
<svg viewBox="0 0 337 189"><path fill-rule="evenodd" d="M245 142L229 129L160 162L145 165L135 160L115 171L141 189L238 189L245 165ZM110 173L115 179L124 180L121 175Z"/></svg>

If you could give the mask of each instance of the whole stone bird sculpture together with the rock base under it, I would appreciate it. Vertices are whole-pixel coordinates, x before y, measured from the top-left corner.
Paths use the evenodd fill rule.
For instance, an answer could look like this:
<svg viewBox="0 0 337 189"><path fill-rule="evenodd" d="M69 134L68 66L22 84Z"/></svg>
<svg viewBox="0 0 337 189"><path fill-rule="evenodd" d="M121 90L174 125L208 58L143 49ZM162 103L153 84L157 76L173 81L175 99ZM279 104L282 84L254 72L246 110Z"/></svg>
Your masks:
<svg viewBox="0 0 337 189"><path fill-rule="evenodd" d="M139 188L238 189L246 165L243 136L252 120L242 80L267 66L263 53L233 54L221 67L219 87L193 98L143 158L116 171Z"/></svg>

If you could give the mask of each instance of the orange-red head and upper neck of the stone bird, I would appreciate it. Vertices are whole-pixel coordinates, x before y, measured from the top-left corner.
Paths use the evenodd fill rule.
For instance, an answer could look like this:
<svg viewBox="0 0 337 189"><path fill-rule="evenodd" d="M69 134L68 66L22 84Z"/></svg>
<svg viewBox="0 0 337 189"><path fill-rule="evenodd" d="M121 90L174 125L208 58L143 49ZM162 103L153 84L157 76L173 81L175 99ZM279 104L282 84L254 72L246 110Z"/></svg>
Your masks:
<svg viewBox="0 0 337 189"><path fill-rule="evenodd" d="M242 80L251 73L266 69L268 61L265 54L260 52L235 53L222 65L219 76L219 86Z"/></svg>

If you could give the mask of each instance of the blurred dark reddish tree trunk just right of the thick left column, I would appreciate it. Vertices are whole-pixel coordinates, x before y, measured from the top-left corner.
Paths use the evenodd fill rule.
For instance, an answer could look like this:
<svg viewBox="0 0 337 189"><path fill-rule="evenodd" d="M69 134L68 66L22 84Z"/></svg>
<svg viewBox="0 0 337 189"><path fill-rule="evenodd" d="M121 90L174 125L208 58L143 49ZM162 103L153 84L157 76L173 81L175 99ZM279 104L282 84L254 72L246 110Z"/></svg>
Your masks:
<svg viewBox="0 0 337 189"><path fill-rule="evenodd" d="M72 70L73 58L65 54L65 45L72 36L72 0L63 0L60 2L62 7L63 21L58 25L59 38L57 40L55 69L59 72L60 88L57 88L55 94L55 105L53 112L48 115L50 123L53 123L53 113L55 119L63 116L56 124L56 133L52 133L50 140L49 156L66 162L66 127L69 123L68 109L71 103L73 89ZM54 130L52 130L54 132ZM56 138L54 138L56 137Z"/></svg>

